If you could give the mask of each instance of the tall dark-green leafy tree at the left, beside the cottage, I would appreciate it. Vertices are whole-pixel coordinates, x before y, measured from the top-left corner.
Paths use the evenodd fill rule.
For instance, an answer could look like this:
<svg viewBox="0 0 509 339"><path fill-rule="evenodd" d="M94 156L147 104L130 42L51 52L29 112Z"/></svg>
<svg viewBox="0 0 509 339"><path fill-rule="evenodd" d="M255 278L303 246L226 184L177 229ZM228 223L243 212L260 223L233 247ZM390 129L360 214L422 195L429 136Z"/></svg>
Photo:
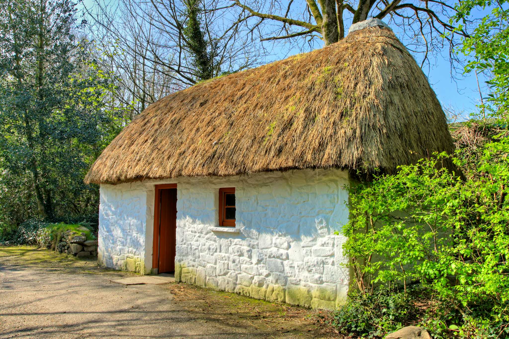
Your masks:
<svg viewBox="0 0 509 339"><path fill-rule="evenodd" d="M75 36L80 25L69 0L0 6L2 176L27 178L44 219L63 201L77 204L76 191L87 209L94 193L80 181L103 146L109 85L88 59L88 42Z"/></svg>

